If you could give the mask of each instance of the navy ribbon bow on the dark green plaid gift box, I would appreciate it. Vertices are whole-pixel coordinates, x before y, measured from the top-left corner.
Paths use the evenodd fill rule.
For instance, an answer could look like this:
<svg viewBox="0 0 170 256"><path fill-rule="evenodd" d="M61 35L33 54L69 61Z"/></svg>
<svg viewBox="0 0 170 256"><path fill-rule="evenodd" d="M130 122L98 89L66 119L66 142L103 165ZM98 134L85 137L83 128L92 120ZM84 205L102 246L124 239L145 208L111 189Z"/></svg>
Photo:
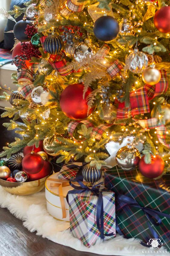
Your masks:
<svg viewBox="0 0 170 256"><path fill-rule="evenodd" d="M162 212L159 212L159 211L147 208L147 207L142 207L135 199L133 199L131 197L127 197L122 194L117 195L116 200L117 200L116 212L123 210L123 209L125 210L127 206L130 206L130 207L134 206L134 207L137 207L137 208L143 210L143 212L145 213L145 216L148 218L147 224L148 224L151 234L153 235L153 238L159 238L159 235L157 234L157 232L151 227L150 222L155 226L159 226L162 223L162 220L160 219L159 216L166 217L166 218L170 219L169 214L162 213ZM118 207L120 207L120 205L122 203L123 203L122 207L118 210ZM128 238L121 232L121 230L118 226L118 219L116 219L116 231L119 233L119 235L123 235L124 238ZM146 238L146 240L148 240L148 238ZM140 242L140 244L142 244L144 246L148 246L142 241Z"/></svg>

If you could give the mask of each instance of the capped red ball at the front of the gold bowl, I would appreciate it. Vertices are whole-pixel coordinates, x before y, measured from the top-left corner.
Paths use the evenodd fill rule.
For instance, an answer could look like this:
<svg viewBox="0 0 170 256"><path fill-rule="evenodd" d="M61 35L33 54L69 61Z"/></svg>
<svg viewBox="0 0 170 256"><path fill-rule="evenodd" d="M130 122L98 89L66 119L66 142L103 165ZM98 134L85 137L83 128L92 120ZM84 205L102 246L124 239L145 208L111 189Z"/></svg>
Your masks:
<svg viewBox="0 0 170 256"><path fill-rule="evenodd" d="M37 153L29 153L22 159L22 167L28 174L35 174L43 168L44 160Z"/></svg>

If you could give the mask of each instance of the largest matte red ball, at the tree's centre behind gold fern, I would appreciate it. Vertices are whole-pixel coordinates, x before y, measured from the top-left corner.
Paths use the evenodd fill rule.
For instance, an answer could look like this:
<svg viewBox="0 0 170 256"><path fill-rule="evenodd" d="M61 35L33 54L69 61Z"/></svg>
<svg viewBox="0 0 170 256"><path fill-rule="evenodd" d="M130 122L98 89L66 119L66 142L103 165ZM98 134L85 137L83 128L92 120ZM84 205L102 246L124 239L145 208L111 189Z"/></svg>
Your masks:
<svg viewBox="0 0 170 256"><path fill-rule="evenodd" d="M85 119L87 118L94 110L90 108L90 111L87 115L87 96L92 92L92 89L89 87L85 97L83 99L83 83L68 85L61 93L60 96L60 107L63 113L71 119Z"/></svg>

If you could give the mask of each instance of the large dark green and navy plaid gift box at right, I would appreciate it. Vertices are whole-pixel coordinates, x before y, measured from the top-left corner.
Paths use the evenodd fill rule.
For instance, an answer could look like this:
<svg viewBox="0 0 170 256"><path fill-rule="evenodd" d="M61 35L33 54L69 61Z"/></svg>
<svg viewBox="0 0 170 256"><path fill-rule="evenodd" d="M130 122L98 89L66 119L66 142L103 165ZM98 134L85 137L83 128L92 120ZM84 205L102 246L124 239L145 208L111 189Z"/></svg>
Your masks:
<svg viewBox="0 0 170 256"><path fill-rule="evenodd" d="M170 214L170 174L153 180L143 177L138 169L124 171L117 165L105 172L105 187L115 192L116 197L116 221L121 232L128 238L140 238L146 243L153 238L148 222L159 235L163 245L170 250L170 220L159 215L162 223L153 225L146 217L142 209L134 206L126 206L117 203L120 194L133 198L141 207L147 207L161 213Z"/></svg>

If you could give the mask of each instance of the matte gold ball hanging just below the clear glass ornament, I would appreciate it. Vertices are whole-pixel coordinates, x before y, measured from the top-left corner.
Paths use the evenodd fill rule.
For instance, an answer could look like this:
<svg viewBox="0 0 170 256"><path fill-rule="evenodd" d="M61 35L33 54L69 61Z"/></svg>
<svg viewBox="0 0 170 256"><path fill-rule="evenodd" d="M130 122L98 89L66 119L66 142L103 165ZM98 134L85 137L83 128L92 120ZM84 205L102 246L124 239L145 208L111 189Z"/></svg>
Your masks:
<svg viewBox="0 0 170 256"><path fill-rule="evenodd" d="M147 85L156 85L161 79L161 73L154 67L148 67L143 71L142 79Z"/></svg>

